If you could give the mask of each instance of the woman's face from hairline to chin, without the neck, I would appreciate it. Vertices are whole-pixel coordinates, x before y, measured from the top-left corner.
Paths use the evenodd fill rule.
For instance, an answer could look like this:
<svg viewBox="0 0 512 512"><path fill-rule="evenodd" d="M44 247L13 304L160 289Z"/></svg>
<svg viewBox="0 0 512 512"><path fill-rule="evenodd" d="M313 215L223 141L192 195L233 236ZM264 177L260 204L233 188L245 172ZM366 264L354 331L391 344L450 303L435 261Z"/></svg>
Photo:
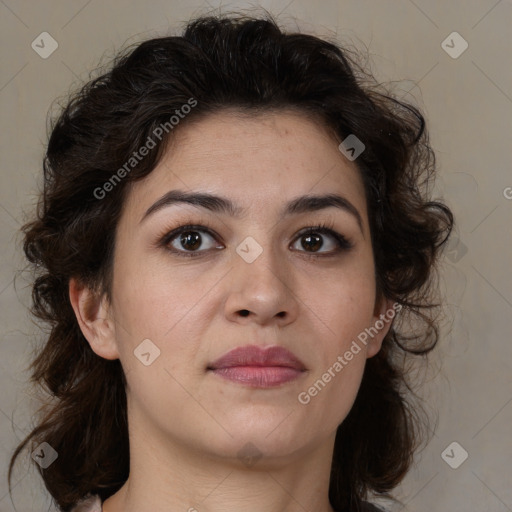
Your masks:
<svg viewBox="0 0 512 512"><path fill-rule="evenodd" d="M223 202L164 197L176 190ZM341 199L296 202L328 194ZM89 340L121 360L133 428L210 455L332 442L389 327L358 341L389 308L376 303L364 186L297 113L223 112L177 131L129 191L113 268L109 322ZM290 359L278 351L257 368L214 364L247 345L301 366L276 368Z"/></svg>

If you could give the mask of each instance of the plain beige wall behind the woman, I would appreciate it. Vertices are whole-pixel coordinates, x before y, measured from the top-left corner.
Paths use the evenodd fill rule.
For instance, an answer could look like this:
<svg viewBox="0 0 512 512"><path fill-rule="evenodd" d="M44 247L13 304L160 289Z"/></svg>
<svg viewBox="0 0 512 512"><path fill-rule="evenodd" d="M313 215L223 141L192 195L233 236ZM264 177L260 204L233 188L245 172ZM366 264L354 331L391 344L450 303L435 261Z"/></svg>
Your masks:
<svg viewBox="0 0 512 512"><path fill-rule="evenodd" d="M15 510L7 463L31 422L24 368L42 334L30 320L20 236L41 182L46 115L57 97L85 80L104 54L127 41L175 33L181 22L219 3L185 0L0 0L0 512ZM245 2L223 3L245 8ZM338 37L370 51L380 80L427 113L440 179L435 192L457 226L443 259L448 321L423 387L438 425L396 495L392 510L512 510L510 0L306 0L259 5L285 24ZM170 27L170 28L169 28ZM49 32L58 49L41 58L31 43ZM468 43L458 58L441 43L452 32ZM454 50L458 42L450 45ZM452 51L454 51L452 50ZM16 280L14 276L17 275ZM452 469L443 451L456 441L468 459ZM460 448L450 452L460 456ZM20 463L13 484L20 512L50 510L32 468Z"/></svg>

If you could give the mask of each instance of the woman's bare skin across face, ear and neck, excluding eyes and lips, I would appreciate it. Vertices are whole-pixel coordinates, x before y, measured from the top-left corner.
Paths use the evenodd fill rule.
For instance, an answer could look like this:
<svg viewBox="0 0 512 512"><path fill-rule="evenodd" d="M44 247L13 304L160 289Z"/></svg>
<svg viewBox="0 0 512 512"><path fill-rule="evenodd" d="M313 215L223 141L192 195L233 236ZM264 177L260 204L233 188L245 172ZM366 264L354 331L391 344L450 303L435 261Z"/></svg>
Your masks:
<svg viewBox="0 0 512 512"><path fill-rule="evenodd" d="M299 393L391 309L376 298L363 182L338 143L310 118L286 111L224 111L184 125L158 166L131 186L116 233L112 303L70 281L92 350L119 358L128 382L130 476L104 512L332 512L336 429L354 403L366 359L391 325L361 345L307 405L299 403ZM141 222L172 189L227 197L246 214L174 204ZM362 231L353 215L334 207L279 215L295 197L326 193L355 206ZM157 244L180 225L205 222L219 237L200 232L196 258ZM331 256L304 246L298 233L322 222L332 222L353 247L334 253L336 241L326 234L319 252ZM252 263L236 252L248 236L263 249ZM173 246L189 247L179 235ZM134 356L144 339L160 350L149 366ZM207 371L247 344L286 347L307 371L265 389ZM260 455L255 463L237 455L247 443Z"/></svg>

